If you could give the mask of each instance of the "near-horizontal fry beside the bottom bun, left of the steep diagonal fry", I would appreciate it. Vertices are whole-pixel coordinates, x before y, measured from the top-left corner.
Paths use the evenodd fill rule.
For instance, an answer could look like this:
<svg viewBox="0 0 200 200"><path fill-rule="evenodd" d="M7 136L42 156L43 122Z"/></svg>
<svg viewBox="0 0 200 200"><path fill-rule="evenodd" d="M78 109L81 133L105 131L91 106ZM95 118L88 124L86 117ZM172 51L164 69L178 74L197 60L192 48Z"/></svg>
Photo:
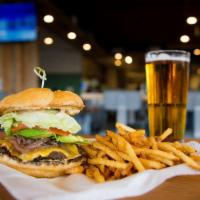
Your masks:
<svg viewBox="0 0 200 200"><path fill-rule="evenodd" d="M127 163L124 163L124 162L118 162L118 161L108 160L104 158L88 159L88 163L93 164L93 165L105 165L105 166L119 168L119 169L125 169L128 165Z"/></svg>

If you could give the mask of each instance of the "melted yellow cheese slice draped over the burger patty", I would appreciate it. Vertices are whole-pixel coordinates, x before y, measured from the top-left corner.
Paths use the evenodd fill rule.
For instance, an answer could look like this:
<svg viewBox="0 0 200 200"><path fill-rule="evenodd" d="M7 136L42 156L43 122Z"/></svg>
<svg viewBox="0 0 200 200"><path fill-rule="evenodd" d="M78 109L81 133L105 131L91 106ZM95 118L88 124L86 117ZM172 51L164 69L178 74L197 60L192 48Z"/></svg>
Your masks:
<svg viewBox="0 0 200 200"><path fill-rule="evenodd" d="M49 154L53 152L60 152L64 154L67 159L73 159L80 156L78 152L78 148L74 144L65 144L60 147L46 147L46 148L38 148L33 151L27 153L19 153L13 147L13 145L9 142L9 140L0 140L0 146L5 147L11 155L21 159L24 162L32 161L38 157L48 157Z"/></svg>

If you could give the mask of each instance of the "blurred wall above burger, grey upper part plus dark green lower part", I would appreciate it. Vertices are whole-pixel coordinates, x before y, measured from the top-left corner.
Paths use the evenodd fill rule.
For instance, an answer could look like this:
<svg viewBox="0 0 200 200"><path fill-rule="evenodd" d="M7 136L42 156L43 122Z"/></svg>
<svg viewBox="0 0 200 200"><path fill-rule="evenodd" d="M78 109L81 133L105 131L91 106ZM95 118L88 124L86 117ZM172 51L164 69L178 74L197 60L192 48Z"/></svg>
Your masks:
<svg viewBox="0 0 200 200"><path fill-rule="evenodd" d="M43 39L52 37L54 43L45 45ZM40 66L47 72L45 86L53 90L72 90L80 92L82 76L82 54L63 39L45 29L40 30L39 37Z"/></svg>

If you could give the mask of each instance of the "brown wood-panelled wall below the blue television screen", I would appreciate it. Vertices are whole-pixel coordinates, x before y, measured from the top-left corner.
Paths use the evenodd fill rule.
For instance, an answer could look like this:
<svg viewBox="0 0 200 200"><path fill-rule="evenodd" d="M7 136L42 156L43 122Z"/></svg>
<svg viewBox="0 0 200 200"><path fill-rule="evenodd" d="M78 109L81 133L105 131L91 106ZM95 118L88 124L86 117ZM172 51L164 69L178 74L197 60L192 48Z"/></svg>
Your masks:
<svg viewBox="0 0 200 200"><path fill-rule="evenodd" d="M37 65L36 42L0 44L0 91L13 93L37 87L33 73Z"/></svg>

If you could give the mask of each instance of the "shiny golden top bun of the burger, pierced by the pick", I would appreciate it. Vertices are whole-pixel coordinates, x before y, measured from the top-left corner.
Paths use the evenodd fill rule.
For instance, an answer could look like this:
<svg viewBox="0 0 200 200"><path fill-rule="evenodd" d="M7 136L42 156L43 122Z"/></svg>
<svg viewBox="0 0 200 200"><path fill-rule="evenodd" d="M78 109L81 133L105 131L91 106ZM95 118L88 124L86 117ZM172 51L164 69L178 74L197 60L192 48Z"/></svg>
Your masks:
<svg viewBox="0 0 200 200"><path fill-rule="evenodd" d="M48 88L29 88L9 95L0 101L0 113L24 110L58 109L70 115L84 107L82 99L70 91L52 91Z"/></svg>

